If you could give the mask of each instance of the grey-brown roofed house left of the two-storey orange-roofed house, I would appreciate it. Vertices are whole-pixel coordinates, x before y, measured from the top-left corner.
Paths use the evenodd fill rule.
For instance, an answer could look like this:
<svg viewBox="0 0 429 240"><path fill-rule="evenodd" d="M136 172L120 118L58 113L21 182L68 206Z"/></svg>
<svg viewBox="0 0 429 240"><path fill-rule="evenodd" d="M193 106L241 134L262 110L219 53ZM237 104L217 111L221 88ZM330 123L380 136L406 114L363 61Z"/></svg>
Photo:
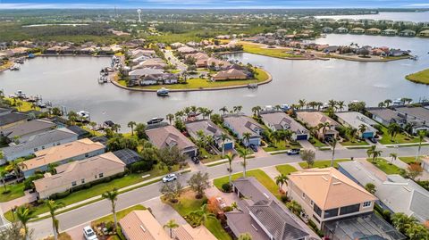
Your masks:
<svg viewBox="0 0 429 240"><path fill-rule="evenodd" d="M239 178L232 187L240 197L240 211L228 211L225 216L235 236L248 233L253 240L304 240L310 235L311 229L256 178Z"/></svg>

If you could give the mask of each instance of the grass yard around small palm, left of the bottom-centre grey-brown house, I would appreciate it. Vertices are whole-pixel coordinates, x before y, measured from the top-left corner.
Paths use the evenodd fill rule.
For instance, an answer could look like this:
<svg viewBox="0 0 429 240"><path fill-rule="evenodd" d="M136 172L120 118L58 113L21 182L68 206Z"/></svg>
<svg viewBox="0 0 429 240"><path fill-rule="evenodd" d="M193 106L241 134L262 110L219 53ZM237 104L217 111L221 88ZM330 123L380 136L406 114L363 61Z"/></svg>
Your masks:
<svg viewBox="0 0 429 240"><path fill-rule="evenodd" d="M164 202L164 199L162 199ZM185 193L181 194L179 198L179 203L169 203L172 208L179 212L184 219L187 219L186 216L192 212L198 210L204 203L206 203L206 196L202 199L196 199L195 193L188 190ZM221 240L231 240L231 236L222 228L221 222L218 219L208 219L205 224L206 228L217 238Z"/></svg>

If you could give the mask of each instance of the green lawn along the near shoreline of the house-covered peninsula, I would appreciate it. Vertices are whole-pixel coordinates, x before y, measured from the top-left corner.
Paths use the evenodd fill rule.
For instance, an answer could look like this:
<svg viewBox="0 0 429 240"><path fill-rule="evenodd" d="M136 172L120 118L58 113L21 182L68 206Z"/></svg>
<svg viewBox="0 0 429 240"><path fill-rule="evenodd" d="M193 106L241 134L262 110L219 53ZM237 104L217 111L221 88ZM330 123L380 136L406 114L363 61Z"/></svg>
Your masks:
<svg viewBox="0 0 429 240"><path fill-rule="evenodd" d="M145 87L134 87L140 89L159 89L165 87L168 89L200 89L200 88L215 88L215 87L233 87L240 85L248 85L249 83L259 83L268 79L268 74L265 70L257 69L256 79L247 80L225 80L225 81L210 81L207 79L188 79L186 84L172 84L172 85L151 85ZM121 81L119 84L123 85Z"/></svg>

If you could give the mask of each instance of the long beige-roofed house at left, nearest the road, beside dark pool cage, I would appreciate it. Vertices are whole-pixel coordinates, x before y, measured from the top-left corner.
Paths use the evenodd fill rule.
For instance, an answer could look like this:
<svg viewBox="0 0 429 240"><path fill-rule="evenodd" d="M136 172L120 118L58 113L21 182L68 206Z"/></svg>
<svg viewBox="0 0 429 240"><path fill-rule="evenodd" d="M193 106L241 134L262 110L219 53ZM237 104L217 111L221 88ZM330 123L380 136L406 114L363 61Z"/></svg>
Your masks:
<svg viewBox="0 0 429 240"><path fill-rule="evenodd" d="M121 174L125 171L125 163L114 153L103 153L85 160L71 161L55 170L55 174L46 172L44 178L34 181L39 198L45 199L76 186Z"/></svg>

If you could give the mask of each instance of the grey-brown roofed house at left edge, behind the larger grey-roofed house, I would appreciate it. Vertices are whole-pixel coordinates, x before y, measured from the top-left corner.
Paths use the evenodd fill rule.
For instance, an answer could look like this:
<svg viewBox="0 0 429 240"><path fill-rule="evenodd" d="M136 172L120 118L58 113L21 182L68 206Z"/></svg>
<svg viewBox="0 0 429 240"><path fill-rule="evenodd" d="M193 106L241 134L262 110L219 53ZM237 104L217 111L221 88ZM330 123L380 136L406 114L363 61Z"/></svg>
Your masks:
<svg viewBox="0 0 429 240"><path fill-rule="evenodd" d="M56 124L50 120L29 120L0 130L0 135L13 140L15 137L25 138L54 128Z"/></svg>

